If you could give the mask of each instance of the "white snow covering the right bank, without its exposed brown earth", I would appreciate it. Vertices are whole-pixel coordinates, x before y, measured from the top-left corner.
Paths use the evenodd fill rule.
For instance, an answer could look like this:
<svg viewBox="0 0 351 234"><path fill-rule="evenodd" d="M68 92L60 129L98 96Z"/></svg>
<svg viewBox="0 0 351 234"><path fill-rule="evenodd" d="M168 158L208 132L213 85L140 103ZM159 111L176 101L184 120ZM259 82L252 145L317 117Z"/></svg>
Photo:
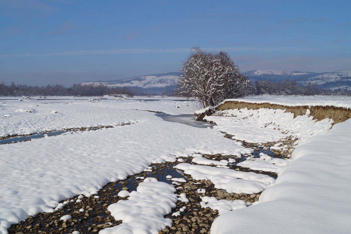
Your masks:
<svg viewBox="0 0 351 234"><path fill-rule="evenodd" d="M287 106L330 105L351 108L350 97L336 96L257 96L233 100ZM300 140L293 151L292 162L284 163L288 166L282 167L279 165L282 161L274 158L276 162L272 162L265 155L238 164L254 170L276 171L278 178L274 186L263 191L258 203L220 215L213 222L212 234L350 233L351 202L347 197L351 193L351 119L333 125L328 131L332 121L325 119L316 122L306 115L293 118L281 110L241 109L240 112L223 112L229 116L235 112L238 117L210 116L206 119L219 124L215 128L236 134L236 139L249 142L279 141L284 131L288 132L284 134L285 137L291 134L291 137ZM246 131L241 131L243 128Z"/></svg>

